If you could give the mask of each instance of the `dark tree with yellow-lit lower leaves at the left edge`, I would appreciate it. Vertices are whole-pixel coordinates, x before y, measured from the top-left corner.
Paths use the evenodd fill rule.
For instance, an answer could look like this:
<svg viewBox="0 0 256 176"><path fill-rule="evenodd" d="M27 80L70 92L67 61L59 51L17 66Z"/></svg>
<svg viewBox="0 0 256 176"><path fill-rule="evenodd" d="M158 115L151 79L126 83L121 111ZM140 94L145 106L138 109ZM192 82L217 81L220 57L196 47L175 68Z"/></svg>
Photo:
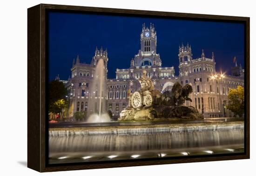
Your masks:
<svg viewBox="0 0 256 176"><path fill-rule="evenodd" d="M67 89L62 82L57 80L49 82L48 88L49 111L59 113L61 112L62 108L67 106L67 101L65 100Z"/></svg>

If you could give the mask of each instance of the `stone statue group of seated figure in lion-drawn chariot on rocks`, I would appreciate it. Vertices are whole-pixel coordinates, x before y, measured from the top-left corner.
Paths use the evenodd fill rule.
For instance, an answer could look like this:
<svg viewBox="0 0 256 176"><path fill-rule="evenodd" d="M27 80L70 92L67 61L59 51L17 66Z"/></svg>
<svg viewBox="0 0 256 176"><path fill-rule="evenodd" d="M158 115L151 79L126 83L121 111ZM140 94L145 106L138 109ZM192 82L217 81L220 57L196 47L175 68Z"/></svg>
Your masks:
<svg viewBox="0 0 256 176"><path fill-rule="evenodd" d="M189 98L193 91L191 85L182 87L176 82L171 91L161 93L154 88L146 70L139 82L141 88L130 94L129 106L121 111L119 121L203 119L193 106L183 105L185 101L192 101Z"/></svg>

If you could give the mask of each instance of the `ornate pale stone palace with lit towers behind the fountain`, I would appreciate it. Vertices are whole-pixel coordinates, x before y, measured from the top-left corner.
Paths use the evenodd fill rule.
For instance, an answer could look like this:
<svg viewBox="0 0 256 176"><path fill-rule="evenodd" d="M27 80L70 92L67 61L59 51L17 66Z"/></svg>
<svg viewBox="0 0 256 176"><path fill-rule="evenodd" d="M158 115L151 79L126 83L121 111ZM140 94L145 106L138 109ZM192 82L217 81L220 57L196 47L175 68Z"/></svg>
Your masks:
<svg viewBox="0 0 256 176"><path fill-rule="evenodd" d="M142 25L141 48L134 58L130 60L130 68L116 69L116 78L105 77L106 88L102 93L101 112L112 110L113 114L119 113L128 105L129 92L136 91L139 87L138 79L142 71L146 70L148 77L152 79L155 89L162 92L171 90L172 85L179 81L182 85L189 84L193 87L190 95L192 102L186 105L194 106L198 111L203 112L204 117L231 117L232 113L227 110L229 103L229 88L236 88L237 85L244 85L243 69L235 66L231 69L231 75L216 72L216 60L214 53L207 58L202 50L200 58L192 58L192 49L189 44L179 46L179 76L175 76L175 69L162 67L160 54L156 51L157 38L154 25L148 27ZM76 111L87 111L88 115L99 112L99 99L97 88L92 90L95 65L99 59L104 60L105 74L108 72L108 52L96 48L94 57L90 64L81 63L79 56L76 62L73 61L71 68L72 77L68 80L68 88L71 90L70 116ZM93 104L91 102L94 102ZM96 101L97 102L97 101Z"/></svg>

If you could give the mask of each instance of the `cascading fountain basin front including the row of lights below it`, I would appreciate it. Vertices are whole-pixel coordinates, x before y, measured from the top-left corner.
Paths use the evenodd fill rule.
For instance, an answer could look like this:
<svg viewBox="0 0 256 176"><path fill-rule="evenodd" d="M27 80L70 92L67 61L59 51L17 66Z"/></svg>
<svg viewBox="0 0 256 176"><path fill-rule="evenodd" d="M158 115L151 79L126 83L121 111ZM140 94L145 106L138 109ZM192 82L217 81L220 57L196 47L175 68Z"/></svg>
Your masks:
<svg viewBox="0 0 256 176"><path fill-rule="evenodd" d="M49 163L239 153L243 148L243 122L49 131Z"/></svg>

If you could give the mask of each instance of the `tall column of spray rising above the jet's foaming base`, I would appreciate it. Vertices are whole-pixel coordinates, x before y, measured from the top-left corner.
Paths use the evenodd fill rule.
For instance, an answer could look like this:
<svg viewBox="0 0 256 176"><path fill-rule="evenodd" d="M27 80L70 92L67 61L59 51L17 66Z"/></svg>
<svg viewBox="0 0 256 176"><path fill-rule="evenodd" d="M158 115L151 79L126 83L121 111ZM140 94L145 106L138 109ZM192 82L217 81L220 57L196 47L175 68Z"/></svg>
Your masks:
<svg viewBox="0 0 256 176"><path fill-rule="evenodd" d="M90 92L90 112L89 114L99 114L101 117L102 113L106 112L106 74L104 60L97 59L95 72L93 76L93 85Z"/></svg>

